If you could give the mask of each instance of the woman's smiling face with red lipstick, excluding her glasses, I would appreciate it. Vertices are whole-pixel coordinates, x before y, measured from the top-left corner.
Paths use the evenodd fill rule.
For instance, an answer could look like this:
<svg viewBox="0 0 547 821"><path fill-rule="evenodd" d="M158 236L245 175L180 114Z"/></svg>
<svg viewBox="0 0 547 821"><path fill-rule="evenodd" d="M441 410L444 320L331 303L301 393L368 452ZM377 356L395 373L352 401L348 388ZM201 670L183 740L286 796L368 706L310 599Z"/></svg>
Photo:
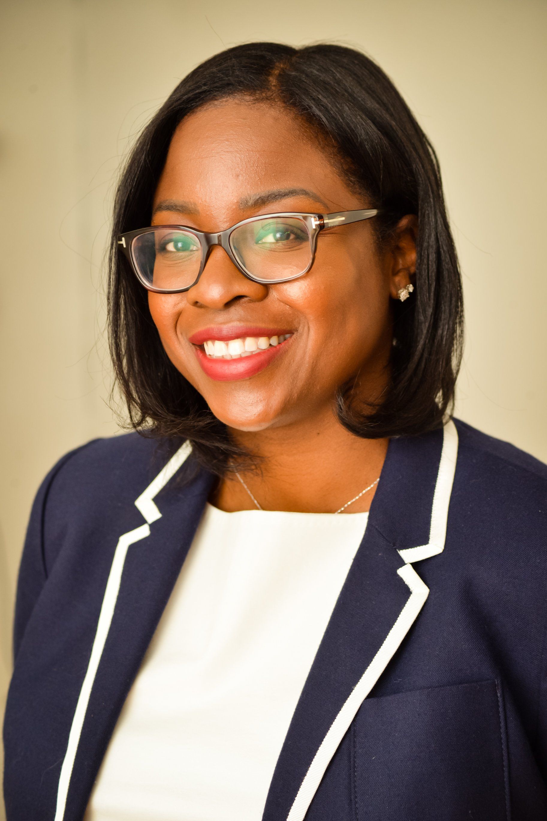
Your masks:
<svg viewBox="0 0 547 821"><path fill-rule="evenodd" d="M288 112L229 100L198 109L175 131L153 225L219 232L258 214L367 207ZM390 296L408 282L397 261L377 248L372 220L320 232L311 270L270 286L244 277L215 246L189 291L149 292L148 304L171 362L212 413L258 431L330 412L337 389L356 376L360 397L378 396L388 377ZM259 352L212 361L203 344L237 339L232 351L257 340Z"/></svg>

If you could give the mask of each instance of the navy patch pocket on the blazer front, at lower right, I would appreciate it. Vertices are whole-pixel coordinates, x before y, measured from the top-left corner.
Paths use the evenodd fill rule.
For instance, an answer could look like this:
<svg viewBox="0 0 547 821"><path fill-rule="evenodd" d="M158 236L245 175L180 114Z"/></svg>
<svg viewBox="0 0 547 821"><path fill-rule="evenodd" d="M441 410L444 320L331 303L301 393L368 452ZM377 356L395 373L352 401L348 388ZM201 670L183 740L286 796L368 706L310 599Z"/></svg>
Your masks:
<svg viewBox="0 0 547 821"><path fill-rule="evenodd" d="M353 723L357 821L507 821L495 681L366 699Z"/></svg>

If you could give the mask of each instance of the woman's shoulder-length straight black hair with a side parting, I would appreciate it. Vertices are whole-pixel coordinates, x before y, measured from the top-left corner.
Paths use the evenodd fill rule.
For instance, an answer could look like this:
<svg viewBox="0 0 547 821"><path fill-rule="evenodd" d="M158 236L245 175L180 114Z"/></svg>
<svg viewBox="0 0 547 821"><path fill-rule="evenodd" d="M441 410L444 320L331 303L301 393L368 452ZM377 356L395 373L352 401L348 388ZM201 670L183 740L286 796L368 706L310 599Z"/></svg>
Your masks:
<svg viewBox="0 0 547 821"><path fill-rule="evenodd" d="M385 238L416 214L417 273L411 299L394 304L390 383L376 405L352 406L340 386L340 422L364 438L416 435L440 427L454 404L463 299L444 206L439 163L393 83L353 48L250 43L203 62L176 86L144 128L117 188L109 259L109 338L116 382L131 426L187 438L208 470L222 475L244 453L226 425L167 358L148 311L147 291L117 250L116 236L149 224L153 195L176 126L190 112L235 96L282 105L331 145L349 184L381 209Z"/></svg>

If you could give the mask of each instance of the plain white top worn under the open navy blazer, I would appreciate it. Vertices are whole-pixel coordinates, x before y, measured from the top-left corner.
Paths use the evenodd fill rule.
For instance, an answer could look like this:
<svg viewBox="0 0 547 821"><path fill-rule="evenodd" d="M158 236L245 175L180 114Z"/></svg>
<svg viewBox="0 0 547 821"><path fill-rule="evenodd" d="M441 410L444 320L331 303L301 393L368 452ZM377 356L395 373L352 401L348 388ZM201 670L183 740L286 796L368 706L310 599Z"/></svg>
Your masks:
<svg viewBox="0 0 547 821"><path fill-rule="evenodd" d="M259 821L367 513L207 504L84 821Z"/></svg>

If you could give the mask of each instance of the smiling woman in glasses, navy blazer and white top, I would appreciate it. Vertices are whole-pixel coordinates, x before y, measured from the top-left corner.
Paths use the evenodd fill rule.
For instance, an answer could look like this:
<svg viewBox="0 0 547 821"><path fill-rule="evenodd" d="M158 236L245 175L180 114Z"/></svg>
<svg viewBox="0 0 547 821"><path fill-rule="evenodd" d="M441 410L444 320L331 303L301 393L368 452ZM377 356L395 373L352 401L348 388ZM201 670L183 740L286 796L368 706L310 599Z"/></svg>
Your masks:
<svg viewBox="0 0 547 821"><path fill-rule="evenodd" d="M390 80L330 45L195 69L109 299L138 433L34 503L9 821L544 819L547 470L450 418L458 264Z"/></svg>

